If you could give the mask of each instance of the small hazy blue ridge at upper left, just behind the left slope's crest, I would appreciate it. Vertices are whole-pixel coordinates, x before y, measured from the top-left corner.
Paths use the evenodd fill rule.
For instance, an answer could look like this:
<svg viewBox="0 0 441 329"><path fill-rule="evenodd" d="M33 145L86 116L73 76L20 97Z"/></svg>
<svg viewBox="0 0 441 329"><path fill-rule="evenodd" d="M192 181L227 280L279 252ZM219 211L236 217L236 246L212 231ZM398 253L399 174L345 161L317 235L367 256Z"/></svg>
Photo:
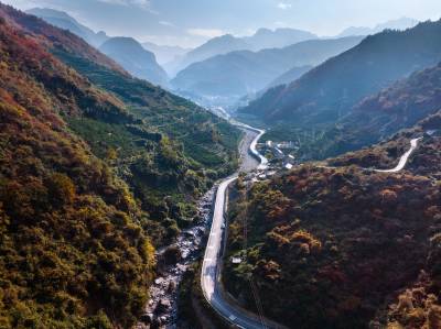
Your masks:
<svg viewBox="0 0 441 329"><path fill-rule="evenodd" d="M105 32L101 31L95 33L89 28L78 23L74 18L63 11L49 8L34 8L28 10L26 13L36 15L60 29L68 30L95 47L99 47L109 39Z"/></svg>

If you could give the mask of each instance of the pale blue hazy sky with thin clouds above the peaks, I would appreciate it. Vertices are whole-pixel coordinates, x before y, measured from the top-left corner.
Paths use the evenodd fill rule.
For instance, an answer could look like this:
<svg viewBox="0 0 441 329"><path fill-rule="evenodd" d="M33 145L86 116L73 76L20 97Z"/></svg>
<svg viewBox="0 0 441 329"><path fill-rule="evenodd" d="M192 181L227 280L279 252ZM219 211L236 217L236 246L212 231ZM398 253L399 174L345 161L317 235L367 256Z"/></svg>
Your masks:
<svg viewBox="0 0 441 329"><path fill-rule="evenodd" d="M441 0L0 0L21 9L49 7L110 35L195 46L224 33L295 28L334 35L409 17L441 18Z"/></svg>

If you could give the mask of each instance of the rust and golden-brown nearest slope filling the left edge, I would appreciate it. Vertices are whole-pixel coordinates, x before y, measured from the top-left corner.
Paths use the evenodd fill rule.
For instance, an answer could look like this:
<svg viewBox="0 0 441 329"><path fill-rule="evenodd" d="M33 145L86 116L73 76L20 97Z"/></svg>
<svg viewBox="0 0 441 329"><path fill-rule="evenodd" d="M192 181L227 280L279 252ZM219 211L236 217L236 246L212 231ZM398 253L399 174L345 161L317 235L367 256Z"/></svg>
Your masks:
<svg viewBox="0 0 441 329"><path fill-rule="evenodd" d="M4 18L0 35L0 327L130 326L152 277L148 213L64 120L127 113Z"/></svg>

